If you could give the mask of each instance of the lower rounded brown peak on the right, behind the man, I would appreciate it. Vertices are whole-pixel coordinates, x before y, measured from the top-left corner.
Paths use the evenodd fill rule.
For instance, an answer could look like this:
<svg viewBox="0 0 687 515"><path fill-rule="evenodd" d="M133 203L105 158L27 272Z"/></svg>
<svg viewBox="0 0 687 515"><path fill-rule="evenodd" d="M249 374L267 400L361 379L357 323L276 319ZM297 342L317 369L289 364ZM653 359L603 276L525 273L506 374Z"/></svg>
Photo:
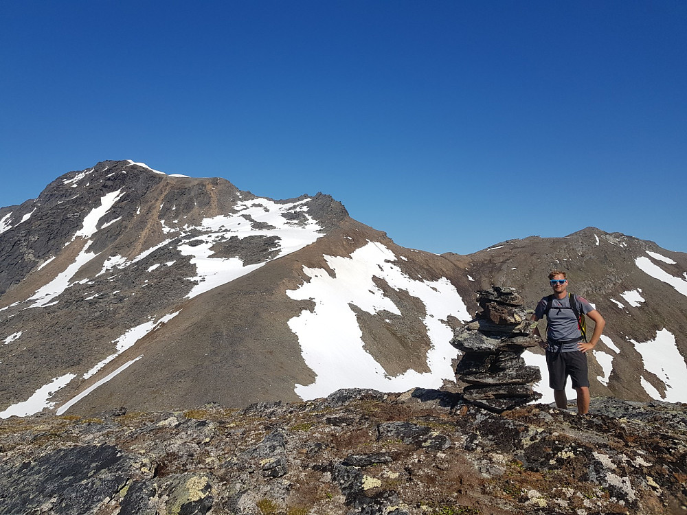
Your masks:
<svg viewBox="0 0 687 515"><path fill-rule="evenodd" d="M589 358L592 391L636 400L687 400L680 379L687 376L684 253L587 227L565 238L509 240L469 256L446 256L457 264L469 260L467 272L480 288L517 288L532 308L550 293L548 272L567 271L568 290L591 301L607 321ZM543 363L538 356L530 353L530 364Z"/></svg>

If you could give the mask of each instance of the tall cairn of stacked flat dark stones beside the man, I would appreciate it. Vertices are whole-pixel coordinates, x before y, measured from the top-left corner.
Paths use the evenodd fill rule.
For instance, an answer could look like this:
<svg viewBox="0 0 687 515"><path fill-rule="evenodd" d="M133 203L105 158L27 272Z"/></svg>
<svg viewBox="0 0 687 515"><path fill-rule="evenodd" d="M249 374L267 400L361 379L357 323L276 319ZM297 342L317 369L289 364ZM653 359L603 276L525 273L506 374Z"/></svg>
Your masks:
<svg viewBox="0 0 687 515"><path fill-rule="evenodd" d="M532 385L541 380L539 367L528 367L521 354L539 345L530 321L532 310L513 288L492 286L477 292L480 312L455 330L451 345L464 352L455 375L467 383L463 400L502 413L541 398Z"/></svg>

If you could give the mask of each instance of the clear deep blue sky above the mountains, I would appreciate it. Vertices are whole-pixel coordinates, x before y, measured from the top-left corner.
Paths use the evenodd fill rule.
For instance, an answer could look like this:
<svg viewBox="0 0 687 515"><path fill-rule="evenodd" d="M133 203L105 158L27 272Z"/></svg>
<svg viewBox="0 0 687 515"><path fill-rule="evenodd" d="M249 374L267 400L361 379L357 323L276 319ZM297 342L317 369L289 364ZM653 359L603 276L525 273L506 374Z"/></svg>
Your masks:
<svg viewBox="0 0 687 515"><path fill-rule="evenodd" d="M0 205L133 159L436 253L589 225L685 252L686 27L684 0L3 0Z"/></svg>

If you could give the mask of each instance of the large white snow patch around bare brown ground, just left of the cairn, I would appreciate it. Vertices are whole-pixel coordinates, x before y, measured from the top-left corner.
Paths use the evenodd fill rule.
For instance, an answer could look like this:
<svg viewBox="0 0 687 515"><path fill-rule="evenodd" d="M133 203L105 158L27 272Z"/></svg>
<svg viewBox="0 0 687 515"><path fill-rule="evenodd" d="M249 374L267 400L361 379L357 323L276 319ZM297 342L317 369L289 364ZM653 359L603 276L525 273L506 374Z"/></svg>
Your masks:
<svg viewBox="0 0 687 515"><path fill-rule="evenodd" d="M449 315L462 321L471 317L458 291L442 277L437 281L411 279L393 264L396 256L382 244L368 242L344 256L324 255L334 277L324 268L303 267L311 280L295 290L286 290L294 300L315 302L313 311L303 310L289 320L289 328L298 337L306 365L315 372L311 385L296 385L302 399L327 396L340 388L362 387L381 391L405 391L412 387L437 388L442 380L453 380L451 360L455 349L449 344L453 332L445 322ZM394 302L385 297L373 277L385 281L394 290L405 290L425 304L423 320L431 347L427 352L428 373L409 369L389 376L365 350L361 328L351 305L375 314L387 311L401 314ZM327 337L323 338L322 335Z"/></svg>

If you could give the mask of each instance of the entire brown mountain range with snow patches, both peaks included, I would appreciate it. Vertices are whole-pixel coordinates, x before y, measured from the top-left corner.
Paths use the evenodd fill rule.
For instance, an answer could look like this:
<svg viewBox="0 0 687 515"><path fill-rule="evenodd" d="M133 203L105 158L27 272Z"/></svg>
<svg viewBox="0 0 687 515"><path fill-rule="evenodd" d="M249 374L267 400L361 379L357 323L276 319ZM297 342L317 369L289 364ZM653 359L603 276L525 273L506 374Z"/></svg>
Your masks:
<svg viewBox="0 0 687 515"><path fill-rule="evenodd" d="M687 256L652 242L587 228L438 256L327 195L273 201L132 161L69 172L0 220L0 417L439 388L475 290L534 308L554 266L608 321L592 393L687 400Z"/></svg>

